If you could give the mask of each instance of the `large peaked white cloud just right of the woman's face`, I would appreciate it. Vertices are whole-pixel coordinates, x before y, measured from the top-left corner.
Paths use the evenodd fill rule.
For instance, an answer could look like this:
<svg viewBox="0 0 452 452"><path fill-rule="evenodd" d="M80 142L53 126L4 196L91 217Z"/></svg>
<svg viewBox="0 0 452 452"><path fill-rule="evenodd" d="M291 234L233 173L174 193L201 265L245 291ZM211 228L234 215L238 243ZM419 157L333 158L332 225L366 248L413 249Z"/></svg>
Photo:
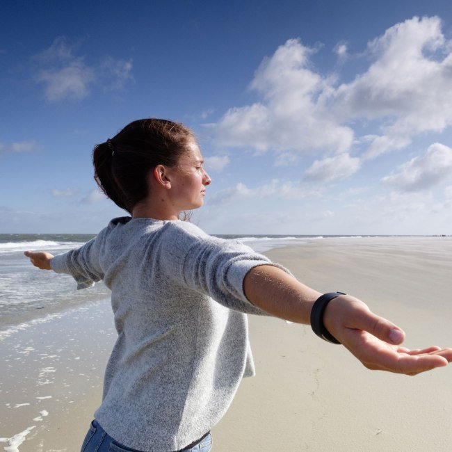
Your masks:
<svg viewBox="0 0 452 452"><path fill-rule="evenodd" d="M230 108L213 124L220 143L261 152L348 150L353 131L329 118L321 96L330 90L332 80L310 68L313 52L292 39L265 58L250 85L262 101Z"/></svg>

